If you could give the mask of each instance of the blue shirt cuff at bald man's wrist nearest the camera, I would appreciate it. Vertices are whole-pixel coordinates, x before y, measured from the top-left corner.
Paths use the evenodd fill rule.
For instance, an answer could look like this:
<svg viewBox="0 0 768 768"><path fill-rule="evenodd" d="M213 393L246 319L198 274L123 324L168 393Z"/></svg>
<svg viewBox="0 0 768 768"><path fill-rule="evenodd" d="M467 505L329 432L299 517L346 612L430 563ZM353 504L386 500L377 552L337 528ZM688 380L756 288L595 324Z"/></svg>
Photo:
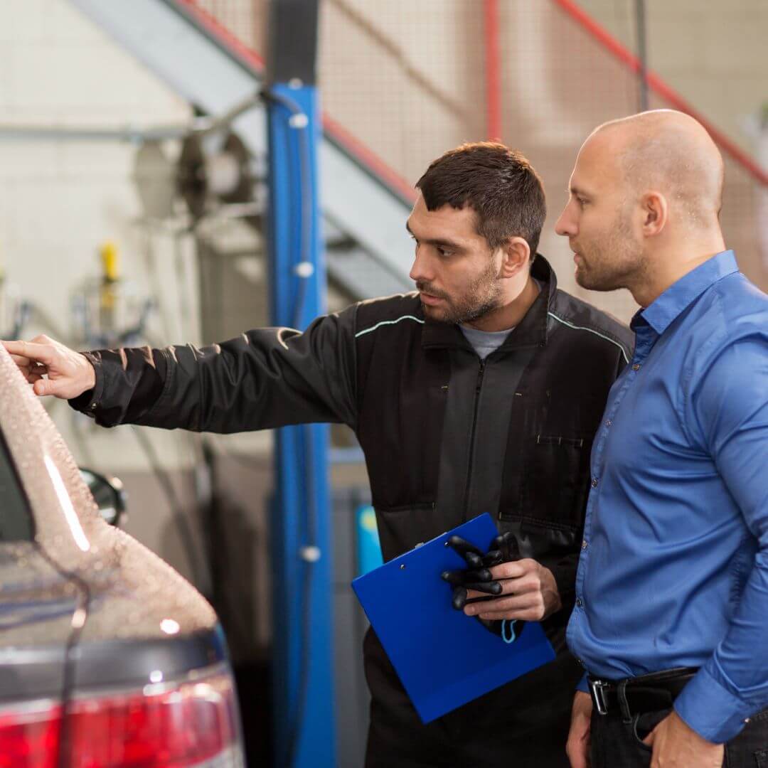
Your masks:
<svg viewBox="0 0 768 768"><path fill-rule="evenodd" d="M700 737L716 744L730 741L755 712L753 704L744 703L726 690L702 667L684 687L674 709Z"/></svg>

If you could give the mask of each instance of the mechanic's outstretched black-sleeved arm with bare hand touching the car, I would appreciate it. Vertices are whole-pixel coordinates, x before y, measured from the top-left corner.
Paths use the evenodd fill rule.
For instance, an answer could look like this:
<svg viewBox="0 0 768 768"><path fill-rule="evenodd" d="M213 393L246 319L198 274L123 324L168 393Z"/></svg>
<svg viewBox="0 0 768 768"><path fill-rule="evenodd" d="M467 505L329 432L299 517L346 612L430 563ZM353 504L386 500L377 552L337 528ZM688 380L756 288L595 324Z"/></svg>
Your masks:
<svg viewBox="0 0 768 768"><path fill-rule="evenodd" d="M264 328L197 348L76 353L52 339L5 346L38 395L69 399L104 426L242 432L356 422L356 307L304 333ZM47 379L43 378L48 376Z"/></svg>

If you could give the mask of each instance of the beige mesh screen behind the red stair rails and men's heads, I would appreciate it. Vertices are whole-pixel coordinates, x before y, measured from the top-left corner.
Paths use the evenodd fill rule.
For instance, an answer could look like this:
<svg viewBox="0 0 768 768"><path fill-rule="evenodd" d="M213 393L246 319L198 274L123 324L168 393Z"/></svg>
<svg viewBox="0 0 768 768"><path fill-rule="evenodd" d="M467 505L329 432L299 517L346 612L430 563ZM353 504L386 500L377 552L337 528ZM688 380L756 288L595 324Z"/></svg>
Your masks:
<svg viewBox="0 0 768 768"><path fill-rule="evenodd" d="M263 55L266 0L197 5ZM321 6L323 109L409 184L443 151L486 137L482 8L480 0L324 0ZM499 0L498 41L502 141L530 158L548 192L541 251L565 290L627 321L637 309L629 293L577 286L568 243L553 227L578 148L596 125L637 111L637 77L555 0ZM650 94L650 108L671 106ZM757 213L765 186L723 154L726 241L743 272L765 290L768 254L761 257Z"/></svg>

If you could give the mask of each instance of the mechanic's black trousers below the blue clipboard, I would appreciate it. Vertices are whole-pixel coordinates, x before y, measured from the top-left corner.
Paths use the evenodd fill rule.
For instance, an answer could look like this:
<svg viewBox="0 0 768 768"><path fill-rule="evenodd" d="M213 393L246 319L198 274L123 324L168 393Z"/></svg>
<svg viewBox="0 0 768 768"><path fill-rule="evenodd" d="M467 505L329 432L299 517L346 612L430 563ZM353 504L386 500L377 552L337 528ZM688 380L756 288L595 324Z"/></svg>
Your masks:
<svg viewBox="0 0 768 768"><path fill-rule="evenodd" d="M583 670L567 652L427 725L372 632L364 655L372 696L366 768L568 768Z"/></svg>

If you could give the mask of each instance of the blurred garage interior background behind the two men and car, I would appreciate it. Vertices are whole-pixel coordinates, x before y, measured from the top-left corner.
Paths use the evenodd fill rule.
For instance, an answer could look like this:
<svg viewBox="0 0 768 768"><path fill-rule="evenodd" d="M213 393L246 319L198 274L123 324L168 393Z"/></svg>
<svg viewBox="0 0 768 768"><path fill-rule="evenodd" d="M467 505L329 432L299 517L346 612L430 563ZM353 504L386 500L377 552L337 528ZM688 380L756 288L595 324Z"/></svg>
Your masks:
<svg viewBox="0 0 768 768"><path fill-rule="evenodd" d="M768 6L645 5L9 0L2 338L205 345L412 290L413 184L488 137L545 182L540 250L561 287L626 323L629 293L578 286L553 225L584 136L642 108L710 130L728 245L768 290ZM309 245L297 197L318 216ZM349 582L376 539L353 433L104 430L48 400L78 464L124 483L121 527L217 611L248 764L361 765L366 618Z"/></svg>

